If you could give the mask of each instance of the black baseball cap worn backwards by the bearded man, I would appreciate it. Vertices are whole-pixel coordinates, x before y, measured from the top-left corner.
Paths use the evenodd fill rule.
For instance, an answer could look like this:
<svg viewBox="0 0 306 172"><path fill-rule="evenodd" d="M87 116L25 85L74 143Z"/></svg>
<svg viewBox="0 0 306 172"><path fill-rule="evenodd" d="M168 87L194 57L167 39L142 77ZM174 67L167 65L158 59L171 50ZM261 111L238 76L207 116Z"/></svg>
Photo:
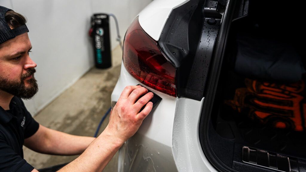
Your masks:
<svg viewBox="0 0 306 172"><path fill-rule="evenodd" d="M28 27L24 24L18 28L11 29L6 23L5 14L10 11L4 6L0 6L0 44L6 42L9 39L13 39L18 35L29 32Z"/></svg>

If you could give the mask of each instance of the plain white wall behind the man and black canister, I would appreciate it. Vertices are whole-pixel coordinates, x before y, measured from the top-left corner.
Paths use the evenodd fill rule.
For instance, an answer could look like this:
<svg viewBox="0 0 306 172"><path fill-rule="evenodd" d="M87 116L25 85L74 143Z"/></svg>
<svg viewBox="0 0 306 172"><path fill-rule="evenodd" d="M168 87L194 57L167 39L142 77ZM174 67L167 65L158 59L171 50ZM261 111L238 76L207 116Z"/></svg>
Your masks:
<svg viewBox="0 0 306 172"><path fill-rule="evenodd" d="M35 77L39 92L25 101L35 115L93 65L93 50L88 36L92 13L113 13L119 22L121 38L133 18L151 0L0 0L1 6L28 18L28 34L33 46L30 54L37 63ZM110 19L111 46L116 42L116 27ZM77 93L76 93L77 94Z"/></svg>

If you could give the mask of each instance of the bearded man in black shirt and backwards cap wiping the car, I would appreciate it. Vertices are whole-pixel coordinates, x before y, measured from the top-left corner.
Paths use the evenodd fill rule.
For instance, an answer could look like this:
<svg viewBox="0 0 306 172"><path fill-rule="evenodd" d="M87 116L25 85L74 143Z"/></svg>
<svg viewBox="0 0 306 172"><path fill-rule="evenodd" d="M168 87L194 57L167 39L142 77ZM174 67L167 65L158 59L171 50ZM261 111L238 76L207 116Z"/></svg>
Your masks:
<svg viewBox="0 0 306 172"><path fill-rule="evenodd" d="M37 172L23 159L23 145L52 155L81 154L59 171L102 171L150 113L153 93L141 86L126 87L109 124L97 138L74 136L39 125L22 101L31 99L38 91L36 63L29 56L32 45L25 23L21 14L0 6L0 171Z"/></svg>

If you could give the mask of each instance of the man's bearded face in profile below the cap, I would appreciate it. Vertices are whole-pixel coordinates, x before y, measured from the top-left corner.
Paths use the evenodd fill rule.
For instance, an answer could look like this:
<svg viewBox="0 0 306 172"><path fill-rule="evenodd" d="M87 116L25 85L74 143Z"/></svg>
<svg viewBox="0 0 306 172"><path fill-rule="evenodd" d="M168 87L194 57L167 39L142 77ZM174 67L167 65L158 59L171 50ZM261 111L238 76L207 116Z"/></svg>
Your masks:
<svg viewBox="0 0 306 172"><path fill-rule="evenodd" d="M0 91L23 99L31 99L36 94L36 63L29 56L31 48L28 33L0 44Z"/></svg>

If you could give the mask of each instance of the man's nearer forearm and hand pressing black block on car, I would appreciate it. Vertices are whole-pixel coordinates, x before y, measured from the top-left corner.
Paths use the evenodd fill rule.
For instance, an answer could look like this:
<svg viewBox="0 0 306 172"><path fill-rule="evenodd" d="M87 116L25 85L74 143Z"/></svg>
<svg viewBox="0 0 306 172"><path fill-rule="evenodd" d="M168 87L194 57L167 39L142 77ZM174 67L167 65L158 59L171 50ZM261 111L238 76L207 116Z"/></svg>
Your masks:
<svg viewBox="0 0 306 172"><path fill-rule="evenodd" d="M143 96L137 100L141 95ZM152 97L153 93L148 93L144 87L126 87L110 115L106 129L77 159L59 171L102 171L122 144L136 133L144 118L150 113L153 103L149 100ZM139 112L144 105L144 109Z"/></svg>

